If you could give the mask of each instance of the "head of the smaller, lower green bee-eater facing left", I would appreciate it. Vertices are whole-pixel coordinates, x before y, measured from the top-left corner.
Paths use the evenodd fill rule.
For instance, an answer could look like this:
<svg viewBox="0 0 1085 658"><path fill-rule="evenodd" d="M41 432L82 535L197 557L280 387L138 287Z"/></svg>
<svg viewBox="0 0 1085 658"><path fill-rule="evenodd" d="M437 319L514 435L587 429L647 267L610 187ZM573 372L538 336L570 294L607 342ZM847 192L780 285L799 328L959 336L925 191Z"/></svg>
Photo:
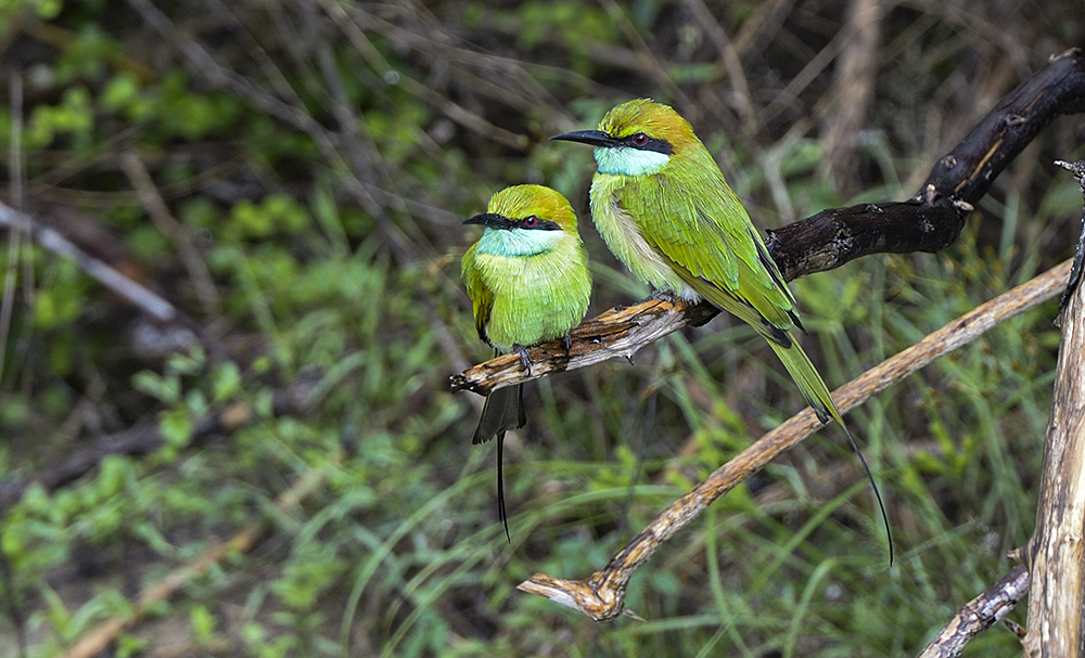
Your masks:
<svg viewBox="0 0 1085 658"><path fill-rule="evenodd" d="M467 219L487 231L482 250L505 256L549 251L566 235L579 241L576 214L560 193L542 185L513 185L490 197L486 211Z"/></svg>

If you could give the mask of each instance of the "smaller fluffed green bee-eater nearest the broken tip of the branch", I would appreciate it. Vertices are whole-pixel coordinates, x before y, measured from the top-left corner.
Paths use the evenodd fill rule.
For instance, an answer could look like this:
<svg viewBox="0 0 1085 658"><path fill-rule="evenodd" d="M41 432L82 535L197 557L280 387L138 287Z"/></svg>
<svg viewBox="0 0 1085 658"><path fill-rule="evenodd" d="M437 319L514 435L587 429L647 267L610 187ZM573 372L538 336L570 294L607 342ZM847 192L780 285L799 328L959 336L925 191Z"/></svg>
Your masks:
<svg viewBox="0 0 1085 658"><path fill-rule="evenodd" d="M506 188L489 199L486 212L463 223L486 227L462 266L478 337L502 352L519 352L524 367L531 367L527 346L565 337L567 347L570 330L588 310L591 275L565 197L541 185ZM472 441L497 437L497 500L506 536L501 450L505 433L525 422L523 385L499 388L486 398Z"/></svg>

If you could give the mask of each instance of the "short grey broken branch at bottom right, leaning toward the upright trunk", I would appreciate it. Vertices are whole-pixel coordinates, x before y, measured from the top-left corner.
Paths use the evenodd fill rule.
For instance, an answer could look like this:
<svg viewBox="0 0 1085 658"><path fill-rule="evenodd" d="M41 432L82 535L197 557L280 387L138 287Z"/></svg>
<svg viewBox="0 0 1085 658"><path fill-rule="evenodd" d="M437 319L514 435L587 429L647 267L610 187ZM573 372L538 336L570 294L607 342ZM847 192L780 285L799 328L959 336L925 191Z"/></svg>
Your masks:
<svg viewBox="0 0 1085 658"><path fill-rule="evenodd" d="M1001 580L965 604L919 658L956 658L972 637L997 623L1029 592L1029 570L1013 567Z"/></svg>

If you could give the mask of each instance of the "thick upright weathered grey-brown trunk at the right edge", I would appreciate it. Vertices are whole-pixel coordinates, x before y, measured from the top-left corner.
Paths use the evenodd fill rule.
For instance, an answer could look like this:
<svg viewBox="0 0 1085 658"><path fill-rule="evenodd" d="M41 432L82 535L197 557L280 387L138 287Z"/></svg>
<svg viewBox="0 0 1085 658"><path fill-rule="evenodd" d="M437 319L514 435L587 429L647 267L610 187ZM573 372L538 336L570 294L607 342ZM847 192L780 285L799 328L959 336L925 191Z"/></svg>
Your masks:
<svg viewBox="0 0 1085 658"><path fill-rule="evenodd" d="M1085 194L1085 163L1075 175ZM1032 658L1085 655L1085 286L1075 284L1059 317L1036 529L1024 551L1032 580L1024 649Z"/></svg>

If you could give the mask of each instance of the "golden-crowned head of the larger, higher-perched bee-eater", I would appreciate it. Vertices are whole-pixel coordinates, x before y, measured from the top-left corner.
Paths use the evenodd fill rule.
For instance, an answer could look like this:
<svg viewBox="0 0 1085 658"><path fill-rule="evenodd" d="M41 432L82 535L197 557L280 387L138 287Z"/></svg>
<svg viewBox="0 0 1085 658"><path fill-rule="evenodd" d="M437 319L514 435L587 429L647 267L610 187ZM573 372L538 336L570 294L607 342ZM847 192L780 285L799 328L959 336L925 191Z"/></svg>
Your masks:
<svg viewBox="0 0 1085 658"><path fill-rule="evenodd" d="M577 130L550 139L591 144L601 173L625 176L658 173L675 154L700 144L689 121L669 105L649 99L612 108L598 130Z"/></svg>

